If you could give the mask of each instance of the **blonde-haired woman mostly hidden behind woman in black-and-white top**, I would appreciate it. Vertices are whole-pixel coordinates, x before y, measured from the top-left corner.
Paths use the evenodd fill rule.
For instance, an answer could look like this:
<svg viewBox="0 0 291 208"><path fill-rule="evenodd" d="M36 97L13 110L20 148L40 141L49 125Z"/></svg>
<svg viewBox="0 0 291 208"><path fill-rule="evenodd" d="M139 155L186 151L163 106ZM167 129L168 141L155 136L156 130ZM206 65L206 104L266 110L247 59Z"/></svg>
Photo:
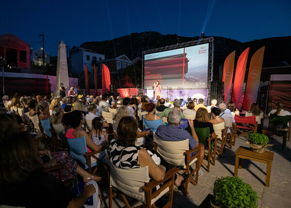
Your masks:
<svg viewBox="0 0 291 208"><path fill-rule="evenodd" d="M116 119L113 121L113 131L115 133L117 133L117 127L118 127L120 119L122 119L125 116L132 116L132 115L129 113L129 110L126 106L119 107L116 113ZM135 116L132 116L132 117L135 119ZM135 145L140 146L140 145L145 144L145 136L150 134L150 130L142 131L141 129L138 128L136 134L137 134L137 138L136 138Z"/></svg>

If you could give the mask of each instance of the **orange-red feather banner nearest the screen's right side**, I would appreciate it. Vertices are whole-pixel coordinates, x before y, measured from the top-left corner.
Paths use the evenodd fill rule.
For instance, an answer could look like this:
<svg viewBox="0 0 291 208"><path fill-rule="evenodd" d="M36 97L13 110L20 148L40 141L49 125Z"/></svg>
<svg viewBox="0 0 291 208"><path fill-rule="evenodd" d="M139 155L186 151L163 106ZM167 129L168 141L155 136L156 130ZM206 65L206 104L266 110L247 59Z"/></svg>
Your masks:
<svg viewBox="0 0 291 208"><path fill-rule="evenodd" d="M226 104L229 102L229 93L232 83L233 67L234 67L235 51L230 53L225 60L223 65L223 78L224 82L224 96Z"/></svg>

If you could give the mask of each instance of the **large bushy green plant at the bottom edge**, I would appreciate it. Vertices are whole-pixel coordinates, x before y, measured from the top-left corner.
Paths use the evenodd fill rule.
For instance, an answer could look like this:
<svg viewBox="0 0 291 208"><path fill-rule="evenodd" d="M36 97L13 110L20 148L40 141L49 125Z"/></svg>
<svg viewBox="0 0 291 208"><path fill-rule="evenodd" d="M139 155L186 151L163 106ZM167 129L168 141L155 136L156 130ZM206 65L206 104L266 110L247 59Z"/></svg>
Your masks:
<svg viewBox="0 0 291 208"><path fill-rule="evenodd" d="M210 203L214 208L257 208L258 195L252 187L236 177L217 178ZM216 205L215 205L216 203ZM218 205L217 205L218 203Z"/></svg>

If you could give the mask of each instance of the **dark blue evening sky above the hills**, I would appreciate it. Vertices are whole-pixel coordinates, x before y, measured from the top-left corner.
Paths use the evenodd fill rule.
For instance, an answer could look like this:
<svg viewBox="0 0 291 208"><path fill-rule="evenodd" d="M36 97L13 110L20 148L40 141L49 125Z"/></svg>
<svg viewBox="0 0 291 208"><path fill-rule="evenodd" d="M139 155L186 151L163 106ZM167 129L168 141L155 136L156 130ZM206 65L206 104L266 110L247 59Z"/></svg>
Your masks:
<svg viewBox="0 0 291 208"><path fill-rule="evenodd" d="M61 39L73 47L131 32L204 32L241 42L291 35L290 0L6 0L0 16L0 34L13 33L36 49L43 33L52 56Z"/></svg>

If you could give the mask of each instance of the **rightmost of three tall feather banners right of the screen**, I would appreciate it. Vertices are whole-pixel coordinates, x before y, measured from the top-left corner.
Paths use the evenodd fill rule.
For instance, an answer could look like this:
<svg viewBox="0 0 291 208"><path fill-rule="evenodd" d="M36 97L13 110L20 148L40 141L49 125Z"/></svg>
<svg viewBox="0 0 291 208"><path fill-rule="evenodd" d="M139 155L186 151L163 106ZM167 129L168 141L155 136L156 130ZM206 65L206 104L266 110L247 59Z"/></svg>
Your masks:
<svg viewBox="0 0 291 208"><path fill-rule="evenodd" d="M253 55L250 63L247 84L245 88L243 109L249 110L252 103L257 102L259 92L259 80L262 71L265 47L259 48Z"/></svg>

